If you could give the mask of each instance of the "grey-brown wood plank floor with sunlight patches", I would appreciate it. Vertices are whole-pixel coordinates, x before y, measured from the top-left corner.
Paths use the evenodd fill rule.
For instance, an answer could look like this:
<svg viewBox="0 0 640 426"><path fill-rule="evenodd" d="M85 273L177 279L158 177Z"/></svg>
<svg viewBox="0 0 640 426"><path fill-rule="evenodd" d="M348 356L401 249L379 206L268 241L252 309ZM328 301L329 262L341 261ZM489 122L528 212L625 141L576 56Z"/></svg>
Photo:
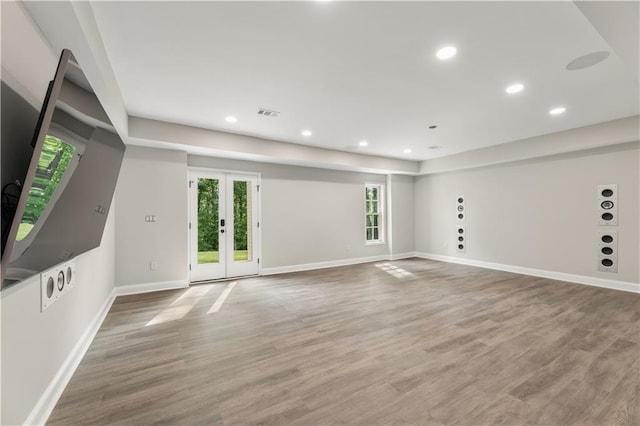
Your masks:
<svg viewBox="0 0 640 426"><path fill-rule="evenodd" d="M50 424L640 424L640 296L408 259L118 297Z"/></svg>

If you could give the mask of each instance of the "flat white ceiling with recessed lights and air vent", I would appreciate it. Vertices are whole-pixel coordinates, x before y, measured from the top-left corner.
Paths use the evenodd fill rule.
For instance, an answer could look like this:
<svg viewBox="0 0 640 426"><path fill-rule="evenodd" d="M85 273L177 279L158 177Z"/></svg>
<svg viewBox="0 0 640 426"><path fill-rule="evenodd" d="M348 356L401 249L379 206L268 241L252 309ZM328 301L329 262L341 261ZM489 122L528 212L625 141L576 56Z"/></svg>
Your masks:
<svg viewBox="0 0 640 426"><path fill-rule="evenodd" d="M132 116L424 160L639 113L638 80L572 2L91 5Z"/></svg>

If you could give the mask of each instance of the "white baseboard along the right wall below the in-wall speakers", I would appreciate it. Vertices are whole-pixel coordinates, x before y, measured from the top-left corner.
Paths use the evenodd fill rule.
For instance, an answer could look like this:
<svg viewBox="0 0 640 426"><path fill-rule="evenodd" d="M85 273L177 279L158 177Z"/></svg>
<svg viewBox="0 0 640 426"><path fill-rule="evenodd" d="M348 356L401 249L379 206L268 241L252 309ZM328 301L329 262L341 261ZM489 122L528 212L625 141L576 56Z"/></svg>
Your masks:
<svg viewBox="0 0 640 426"><path fill-rule="evenodd" d="M564 272L547 271L544 269L526 268L524 266L504 265L501 263L484 262L481 260L464 259L460 257L442 256L431 253L416 253L416 257L423 259L439 260L448 263L458 263L461 265L478 266L486 269L496 269L498 271L513 272L534 277L549 278L552 280L568 281L576 284L586 284L595 287L610 288L613 290L640 293L640 284L627 281L608 280L603 278L588 277L585 275L567 274Z"/></svg>

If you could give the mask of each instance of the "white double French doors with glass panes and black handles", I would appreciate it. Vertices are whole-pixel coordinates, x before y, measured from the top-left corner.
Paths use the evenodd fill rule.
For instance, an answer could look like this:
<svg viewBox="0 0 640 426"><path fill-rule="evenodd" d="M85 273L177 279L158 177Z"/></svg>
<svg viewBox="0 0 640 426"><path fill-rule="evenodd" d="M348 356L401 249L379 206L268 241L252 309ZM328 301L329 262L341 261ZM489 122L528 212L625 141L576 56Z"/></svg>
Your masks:
<svg viewBox="0 0 640 426"><path fill-rule="evenodd" d="M258 273L258 177L192 171L190 281Z"/></svg>

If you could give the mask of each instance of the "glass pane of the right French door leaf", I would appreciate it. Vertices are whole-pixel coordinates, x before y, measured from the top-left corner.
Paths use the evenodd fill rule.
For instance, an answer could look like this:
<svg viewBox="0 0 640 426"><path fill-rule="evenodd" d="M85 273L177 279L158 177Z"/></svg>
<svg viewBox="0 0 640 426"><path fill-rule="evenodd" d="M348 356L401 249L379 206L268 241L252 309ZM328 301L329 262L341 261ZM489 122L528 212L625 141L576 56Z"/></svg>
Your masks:
<svg viewBox="0 0 640 426"><path fill-rule="evenodd" d="M233 260L251 261L251 182L233 182Z"/></svg>

